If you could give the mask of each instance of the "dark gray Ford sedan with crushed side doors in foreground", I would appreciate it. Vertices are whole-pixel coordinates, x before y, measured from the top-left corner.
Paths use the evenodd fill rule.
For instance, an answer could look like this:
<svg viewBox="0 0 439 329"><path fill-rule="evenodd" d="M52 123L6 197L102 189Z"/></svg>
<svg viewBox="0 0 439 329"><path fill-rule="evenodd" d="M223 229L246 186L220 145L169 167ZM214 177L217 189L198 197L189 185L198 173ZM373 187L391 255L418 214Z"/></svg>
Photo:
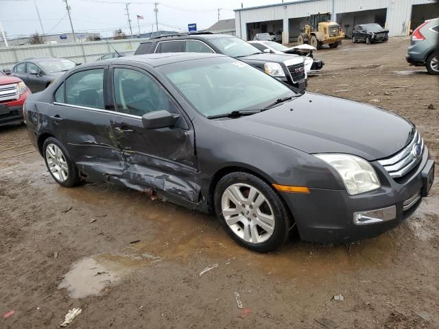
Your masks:
<svg viewBox="0 0 439 329"><path fill-rule="evenodd" d="M227 56L139 55L69 71L25 119L61 186L114 182L213 212L257 252L293 230L353 241L407 219L434 179L414 124L294 90Z"/></svg>

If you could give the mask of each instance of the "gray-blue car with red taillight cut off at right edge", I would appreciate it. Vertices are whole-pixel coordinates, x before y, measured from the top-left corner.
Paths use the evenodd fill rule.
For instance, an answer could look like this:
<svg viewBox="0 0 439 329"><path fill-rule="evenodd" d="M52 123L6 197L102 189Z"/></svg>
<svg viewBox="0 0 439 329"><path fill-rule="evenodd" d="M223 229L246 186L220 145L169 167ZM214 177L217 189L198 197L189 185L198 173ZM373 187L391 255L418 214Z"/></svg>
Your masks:
<svg viewBox="0 0 439 329"><path fill-rule="evenodd" d="M430 19L417 27L405 59L410 65L427 66L431 74L439 74L439 19Z"/></svg>

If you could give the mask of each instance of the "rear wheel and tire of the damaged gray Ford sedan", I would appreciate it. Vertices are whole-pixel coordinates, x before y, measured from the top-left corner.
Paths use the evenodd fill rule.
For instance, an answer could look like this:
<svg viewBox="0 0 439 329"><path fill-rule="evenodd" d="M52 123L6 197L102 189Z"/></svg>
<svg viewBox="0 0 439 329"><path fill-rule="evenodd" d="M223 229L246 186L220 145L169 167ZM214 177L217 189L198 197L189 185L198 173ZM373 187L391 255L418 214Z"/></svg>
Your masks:
<svg viewBox="0 0 439 329"><path fill-rule="evenodd" d="M58 184L64 187L72 187L80 183L78 169L71 160L67 149L58 139L49 137L44 141L43 157L47 170Z"/></svg>

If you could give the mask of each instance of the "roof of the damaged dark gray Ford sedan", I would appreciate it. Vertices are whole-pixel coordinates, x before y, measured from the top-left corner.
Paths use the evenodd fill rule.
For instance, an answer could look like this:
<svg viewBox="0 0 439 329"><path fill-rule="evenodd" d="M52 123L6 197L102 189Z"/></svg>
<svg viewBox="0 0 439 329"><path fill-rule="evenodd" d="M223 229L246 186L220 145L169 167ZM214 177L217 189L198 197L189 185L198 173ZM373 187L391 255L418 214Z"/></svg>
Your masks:
<svg viewBox="0 0 439 329"><path fill-rule="evenodd" d="M228 57L219 53L148 53L145 55L124 56L106 60L109 64L125 64L126 62L139 62L153 67L178 62L187 62L189 60L200 60L202 58L222 58ZM80 67L99 66L101 61L82 64Z"/></svg>

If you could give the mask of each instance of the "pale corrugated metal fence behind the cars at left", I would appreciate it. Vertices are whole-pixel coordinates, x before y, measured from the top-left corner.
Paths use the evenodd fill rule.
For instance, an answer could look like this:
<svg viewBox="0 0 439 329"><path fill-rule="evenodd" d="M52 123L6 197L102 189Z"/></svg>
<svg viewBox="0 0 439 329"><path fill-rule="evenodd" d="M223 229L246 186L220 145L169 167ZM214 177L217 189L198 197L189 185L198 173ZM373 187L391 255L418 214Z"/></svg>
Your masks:
<svg viewBox="0 0 439 329"><path fill-rule="evenodd" d="M147 39L123 39L90 41L69 45L23 45L13 47L0 47L0 69L12 69L16 62L26 58L58 57L67 58L77 63L88 63L97 60L104 53L117 51L136 50L139 43Z"/></svg>

